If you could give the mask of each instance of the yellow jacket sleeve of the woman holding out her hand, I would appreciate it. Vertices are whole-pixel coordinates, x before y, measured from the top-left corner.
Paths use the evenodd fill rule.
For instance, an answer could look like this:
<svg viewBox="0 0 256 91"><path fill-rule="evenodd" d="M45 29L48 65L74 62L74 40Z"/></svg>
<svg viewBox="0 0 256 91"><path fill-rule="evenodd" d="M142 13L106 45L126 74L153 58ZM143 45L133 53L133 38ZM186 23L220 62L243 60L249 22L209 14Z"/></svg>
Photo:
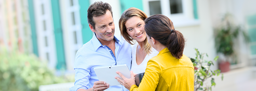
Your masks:
<svg viewBox="0 0 256 91"><path fill-rule="evenodd" d="M139 87L133 85L130 91L155 91L161 73L162 70L159 64L156 61L149 60Z"/></svg>

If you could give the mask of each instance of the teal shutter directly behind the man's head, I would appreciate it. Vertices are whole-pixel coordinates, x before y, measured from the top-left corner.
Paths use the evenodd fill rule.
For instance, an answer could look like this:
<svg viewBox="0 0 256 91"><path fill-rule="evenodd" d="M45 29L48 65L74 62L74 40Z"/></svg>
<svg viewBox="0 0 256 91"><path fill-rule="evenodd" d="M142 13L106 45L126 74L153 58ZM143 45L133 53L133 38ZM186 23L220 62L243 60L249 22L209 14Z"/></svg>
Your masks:
<svg viewBox="0 0 256 91"><path fill-rule="evenodd" d="M89 0L79 0L80 6L80 19L82 25L82 36L83 36L83 43L87 43L93 35L93 32L90 30L88 21L87 21L87 9L90 6Z"/></svg>

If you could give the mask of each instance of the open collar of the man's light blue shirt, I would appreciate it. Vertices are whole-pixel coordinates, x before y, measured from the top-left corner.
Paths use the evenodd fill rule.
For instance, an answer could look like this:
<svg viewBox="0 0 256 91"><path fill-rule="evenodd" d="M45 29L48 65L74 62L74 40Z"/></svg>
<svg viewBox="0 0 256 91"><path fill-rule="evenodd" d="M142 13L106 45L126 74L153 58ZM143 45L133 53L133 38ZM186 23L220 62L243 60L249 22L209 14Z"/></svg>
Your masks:
<svg viewBox="0 0 256 91"><path fill-rule="evenodd" d="M92 36L92 44L93 44L93 47L94 47L94 50L96 51L100 46L103 46L101 44L101 42L98 40L98 38L96 37L96 34L94 33L93 36ZM121 45L121 42L116 38L116 36L114 36L114 40L117 44Z"/></svg>

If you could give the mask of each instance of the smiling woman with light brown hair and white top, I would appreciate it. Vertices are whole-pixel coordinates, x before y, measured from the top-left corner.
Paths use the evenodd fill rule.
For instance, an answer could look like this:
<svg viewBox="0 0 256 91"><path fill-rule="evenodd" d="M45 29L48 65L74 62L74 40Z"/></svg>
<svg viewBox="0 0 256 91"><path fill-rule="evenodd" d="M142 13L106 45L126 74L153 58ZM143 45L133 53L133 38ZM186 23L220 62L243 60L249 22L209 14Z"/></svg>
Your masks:
<svg viewBox="0 0 256 91"><path fill-rule="evenodd" d="M146 32L144 31L144 20L147 17L142 10L130 7L123 12L119 19L121 35L133 45L131 71L136 74L144 73L148 60L158 54L158 51L148 43Z"/></svg>

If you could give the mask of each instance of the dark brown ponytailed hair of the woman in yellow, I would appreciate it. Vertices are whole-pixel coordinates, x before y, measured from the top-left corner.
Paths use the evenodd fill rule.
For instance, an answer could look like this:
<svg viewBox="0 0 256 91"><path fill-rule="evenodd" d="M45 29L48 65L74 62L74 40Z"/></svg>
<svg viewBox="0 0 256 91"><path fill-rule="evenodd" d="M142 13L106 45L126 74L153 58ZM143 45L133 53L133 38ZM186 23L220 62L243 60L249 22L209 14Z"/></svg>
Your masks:
<svg viewBox="0 0 256 91"><path fill-rule="evenodd" d="M145 31L161 44L167 46L171 54L177 59L183 56L185 39L183 34L176 31L172 21L164 15L153 15L145 19Z"/></svg>

